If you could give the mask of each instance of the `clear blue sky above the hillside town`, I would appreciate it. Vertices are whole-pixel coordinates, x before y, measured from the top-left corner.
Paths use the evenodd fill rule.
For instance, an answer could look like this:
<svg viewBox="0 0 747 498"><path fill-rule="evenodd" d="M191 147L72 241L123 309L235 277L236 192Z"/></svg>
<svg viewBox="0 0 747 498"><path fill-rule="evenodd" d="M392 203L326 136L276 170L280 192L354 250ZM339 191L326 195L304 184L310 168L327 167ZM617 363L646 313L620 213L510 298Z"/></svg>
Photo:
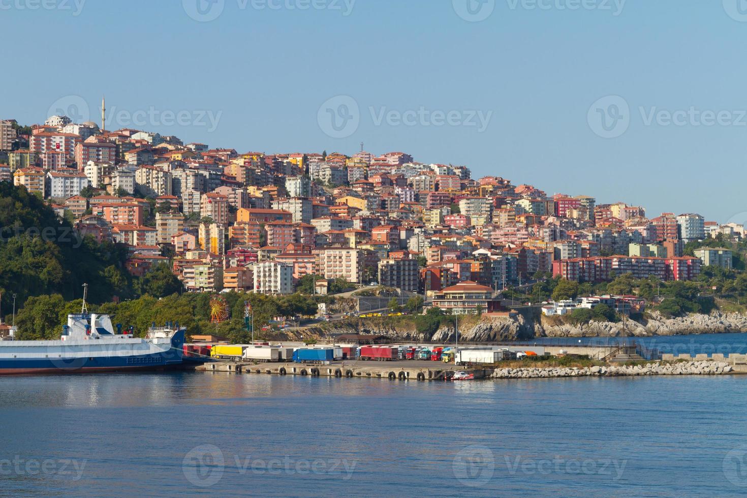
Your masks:
<svg viewBox="0 0 747 498"><path fill-rule="evenodd" d="M0 0L4 118L76 105L98 122L105 93L108 128L145 116L131 127L240 152L364 142L650 216L747 219L747 1L36 1Z"/></svg>

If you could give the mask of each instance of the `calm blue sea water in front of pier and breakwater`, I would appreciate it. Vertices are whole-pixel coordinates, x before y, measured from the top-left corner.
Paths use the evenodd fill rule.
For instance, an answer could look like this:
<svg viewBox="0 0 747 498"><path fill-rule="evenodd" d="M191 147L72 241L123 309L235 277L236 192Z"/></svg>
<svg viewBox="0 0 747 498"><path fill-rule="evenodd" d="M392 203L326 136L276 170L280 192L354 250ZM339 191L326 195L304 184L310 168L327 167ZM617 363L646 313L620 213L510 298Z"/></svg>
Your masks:
<svg viewBox="0 0 747 498"><path fill-rule="evenodd" d="M742 496L746 392L747 376L5 376L0 495Z"/></svg>

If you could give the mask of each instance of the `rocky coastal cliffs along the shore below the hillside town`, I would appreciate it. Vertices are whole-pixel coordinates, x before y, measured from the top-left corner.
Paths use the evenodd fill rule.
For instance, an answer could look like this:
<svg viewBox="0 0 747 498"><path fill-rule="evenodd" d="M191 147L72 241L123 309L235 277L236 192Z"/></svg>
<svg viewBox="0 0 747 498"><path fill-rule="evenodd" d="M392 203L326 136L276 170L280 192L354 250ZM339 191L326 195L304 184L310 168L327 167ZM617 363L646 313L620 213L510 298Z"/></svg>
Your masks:
<svg viewBox="0 0 747 498"><path fill-rule="evenodd" d="M658 312L639 322L591 322L583 325L560 323L557 317L464 317L459 322L459 341L496 342L531 340L535 337L651 337L656 335L723 334L747 332L747 316L738 313L690 314L666 318ZM344 320L309 327L297 338L325 338L340 334L380 334L395 340L452 342L452 325L441 326L432 335L418 332L412 320Z"/></svg>

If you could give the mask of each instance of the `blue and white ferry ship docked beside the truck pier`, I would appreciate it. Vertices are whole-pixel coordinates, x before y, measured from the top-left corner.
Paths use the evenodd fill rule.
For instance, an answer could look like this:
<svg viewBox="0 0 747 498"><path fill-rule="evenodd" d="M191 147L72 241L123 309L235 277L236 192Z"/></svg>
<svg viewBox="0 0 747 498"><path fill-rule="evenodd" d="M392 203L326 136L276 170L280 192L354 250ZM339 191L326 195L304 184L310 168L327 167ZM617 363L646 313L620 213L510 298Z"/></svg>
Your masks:
<svg viewBox="0 0 747 498"><path fill-rule="evenodd" d="M0 374L93 373L172 370L194 367L199 358L185 358L185 329L179 323L149 329L146 337L117 332L107 314L89 314L84 284L80 314L69 314L60 340L0 341Z"/></svg>

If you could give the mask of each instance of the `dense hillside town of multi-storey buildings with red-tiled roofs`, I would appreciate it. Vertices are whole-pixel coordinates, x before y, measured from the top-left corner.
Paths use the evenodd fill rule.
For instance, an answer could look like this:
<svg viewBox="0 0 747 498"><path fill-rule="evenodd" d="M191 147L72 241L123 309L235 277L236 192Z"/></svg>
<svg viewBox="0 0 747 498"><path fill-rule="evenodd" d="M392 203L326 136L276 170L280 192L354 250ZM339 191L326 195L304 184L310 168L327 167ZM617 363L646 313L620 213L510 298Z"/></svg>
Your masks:
<svg viewBox="0 0 747 498"><path fill-rule="evenodd" d="M549 276L692 280L731 268L732 255L687 256L686 243L744 236L696 213L650 216L363 144L352 155L243 152L51 116L0 121L0 151L0 181L43 197L81 235L126 244L134 276L169 264L187 292L290 294L313 276L315 293L376 284L474 313Z"/></svg>

